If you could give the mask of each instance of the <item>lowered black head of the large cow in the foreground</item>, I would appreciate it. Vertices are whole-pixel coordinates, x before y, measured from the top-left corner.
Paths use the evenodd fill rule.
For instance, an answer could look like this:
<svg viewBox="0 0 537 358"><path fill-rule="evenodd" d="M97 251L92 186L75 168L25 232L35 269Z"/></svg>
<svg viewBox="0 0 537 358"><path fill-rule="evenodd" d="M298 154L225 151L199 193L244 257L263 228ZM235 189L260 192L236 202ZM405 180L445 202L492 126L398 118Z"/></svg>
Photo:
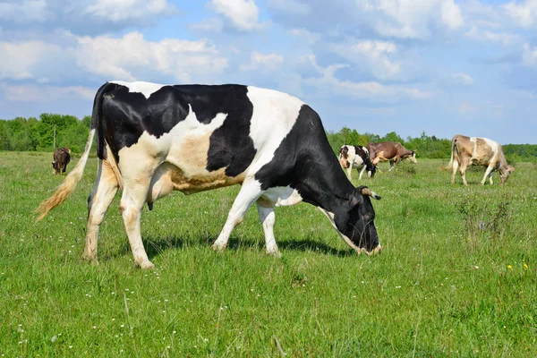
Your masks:
<svg viewBox="0 0 537 358"><path fill-rule="evenodd" d="M379 235L375 227L375 210L371 198L380 197L367 186L357 187L350 200L346 214L335 217L337 230L344 234L354 245L368 253L381 250Z"/></svg>

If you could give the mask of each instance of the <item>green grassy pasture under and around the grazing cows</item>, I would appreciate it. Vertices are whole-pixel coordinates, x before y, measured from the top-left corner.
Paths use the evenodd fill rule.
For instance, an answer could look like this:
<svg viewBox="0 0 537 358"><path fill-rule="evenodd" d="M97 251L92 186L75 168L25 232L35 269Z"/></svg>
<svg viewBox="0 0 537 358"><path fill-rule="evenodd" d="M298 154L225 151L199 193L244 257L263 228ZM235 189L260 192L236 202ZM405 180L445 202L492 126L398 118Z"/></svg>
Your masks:
<svg viewBox="0 0 537 358"><path fill-rule="evenodd" d="M157 266L132 265L118 210L99 265L81 262L90 158L77 190L35 223L63 177L52 153L0 152L0 356L449 357L537 355L537 166L479 184L421 160L363 179L384 250L354 254L308 204L276 209L283 257L251 208L210 249L238 192L176 192L144 209ZM78 158L72 158L71 171ZM354 184L358 184L354 170Z"/></svg>

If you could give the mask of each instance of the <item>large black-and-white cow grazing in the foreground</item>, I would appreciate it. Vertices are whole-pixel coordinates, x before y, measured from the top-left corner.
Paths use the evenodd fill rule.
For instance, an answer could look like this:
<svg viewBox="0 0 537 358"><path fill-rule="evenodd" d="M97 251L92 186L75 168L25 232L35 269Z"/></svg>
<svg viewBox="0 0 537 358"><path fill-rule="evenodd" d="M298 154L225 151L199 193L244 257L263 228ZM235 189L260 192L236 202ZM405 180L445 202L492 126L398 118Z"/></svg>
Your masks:
<svg viewBox="0 0 537 358"><path fill-rule="evenodd" d="M97 261L98 229L118 187L120 210L134 262L151 268L143 247L143 205L176 190L242 188L213 248L256 202L268 254L279 255L274 207L300 201L320 209L355 251L380 251L371 189L339 170L320 116L301 100L242 85L159 85L111 81L95 97L86 149L55 194L41 203L47 215L72 192L97 135L98 178L88 198L84 258Z"/></svg>

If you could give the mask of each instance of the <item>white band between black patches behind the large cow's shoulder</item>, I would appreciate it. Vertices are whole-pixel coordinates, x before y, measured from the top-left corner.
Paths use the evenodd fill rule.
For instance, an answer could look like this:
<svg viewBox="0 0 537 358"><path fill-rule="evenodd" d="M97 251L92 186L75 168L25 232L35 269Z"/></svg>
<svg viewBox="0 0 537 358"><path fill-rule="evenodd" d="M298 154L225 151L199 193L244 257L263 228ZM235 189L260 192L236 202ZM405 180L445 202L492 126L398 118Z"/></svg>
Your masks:
<svg viewBox="0 0 537 358"><path fill-rule="evenodd" d="M274 152L291 132L304 103L286 93L251 86L248 86L248 98L253 105L250 137L257 149L248 172L255 174L274 158Z"/></svg>

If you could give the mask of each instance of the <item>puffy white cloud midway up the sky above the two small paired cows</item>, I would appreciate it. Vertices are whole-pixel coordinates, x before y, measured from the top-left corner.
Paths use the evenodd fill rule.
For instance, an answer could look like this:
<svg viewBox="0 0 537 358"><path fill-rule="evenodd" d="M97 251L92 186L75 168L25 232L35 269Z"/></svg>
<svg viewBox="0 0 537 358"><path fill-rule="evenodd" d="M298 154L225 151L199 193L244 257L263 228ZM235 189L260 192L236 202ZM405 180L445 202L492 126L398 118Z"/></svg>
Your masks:
<svg viewBox="0 0 537 358"><path fill-rule="evenodd" d="M397 47L393 42L377 40L347 40L344 43L329 44L328 49L361 66L371 66L376 78L388 79L401 71L400 64L390 59Z"/></svg>

